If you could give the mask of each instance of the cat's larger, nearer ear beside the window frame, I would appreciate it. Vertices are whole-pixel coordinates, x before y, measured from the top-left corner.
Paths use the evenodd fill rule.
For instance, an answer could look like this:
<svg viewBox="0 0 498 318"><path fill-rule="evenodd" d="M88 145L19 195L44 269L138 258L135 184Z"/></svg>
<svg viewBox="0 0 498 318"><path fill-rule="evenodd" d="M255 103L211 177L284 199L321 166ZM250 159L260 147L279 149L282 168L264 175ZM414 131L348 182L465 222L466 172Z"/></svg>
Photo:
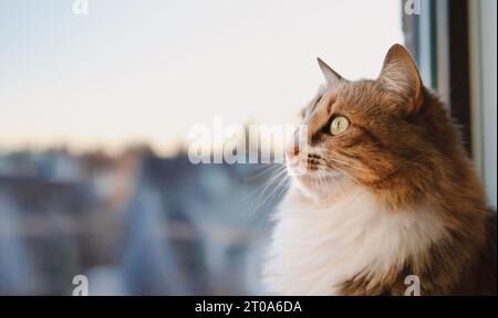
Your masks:
<svg viewBox="0 0 498 318"><path fill-rule="evenodd" d="M418 112L424 98L422 80L415 62L405 47L400 44L391 46L378 81L385 89L402 98L407 114Z"/></svg>

